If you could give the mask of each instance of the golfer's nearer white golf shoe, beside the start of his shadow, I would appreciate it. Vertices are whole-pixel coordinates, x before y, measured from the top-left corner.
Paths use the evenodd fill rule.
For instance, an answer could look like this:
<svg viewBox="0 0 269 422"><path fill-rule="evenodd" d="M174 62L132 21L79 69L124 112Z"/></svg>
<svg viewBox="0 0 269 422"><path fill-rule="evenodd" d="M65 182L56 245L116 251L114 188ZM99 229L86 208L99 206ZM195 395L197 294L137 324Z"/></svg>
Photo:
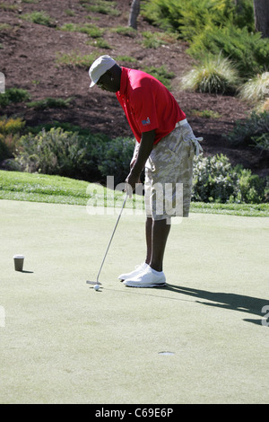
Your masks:
<svg viewBox="0 0 269 422"><path fill-rule="evenodd" d="M128 287L160 287L166 284L166 278L163 271L158 272L148 266L136 277L127 278L124 284Z"/></svg>

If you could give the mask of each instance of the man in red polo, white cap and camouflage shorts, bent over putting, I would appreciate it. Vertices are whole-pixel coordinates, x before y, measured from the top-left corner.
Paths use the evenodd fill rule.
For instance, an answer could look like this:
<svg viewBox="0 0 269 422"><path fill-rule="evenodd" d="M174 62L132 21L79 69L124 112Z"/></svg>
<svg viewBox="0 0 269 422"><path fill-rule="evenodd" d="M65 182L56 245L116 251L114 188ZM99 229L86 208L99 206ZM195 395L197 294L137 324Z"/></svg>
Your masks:
<svg viewBox="0 0 269 422"><path fill-rule="evenodd" d="M195 137L178 102L152 75L118 66L107 55L92 63L89 75L90 87L97 85L116 93L134 133L136 142L126 177L127 192L140 183L141 172L145 170L146 259L134 271L118 278L131 287L163 286L166 277L162 265L171 217L178 215L178 209L182 210L181 216L188 216L193 160L202 151L198 141L203 138ZM178 200L182 207L178 207Z"/></svg>

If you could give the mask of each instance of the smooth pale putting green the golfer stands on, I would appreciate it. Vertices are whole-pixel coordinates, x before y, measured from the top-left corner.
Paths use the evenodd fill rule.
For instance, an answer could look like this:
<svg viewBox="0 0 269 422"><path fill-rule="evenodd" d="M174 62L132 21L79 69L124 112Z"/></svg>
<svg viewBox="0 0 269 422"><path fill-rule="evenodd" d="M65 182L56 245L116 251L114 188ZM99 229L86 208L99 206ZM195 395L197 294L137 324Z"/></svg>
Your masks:
<svg viewBox="0 0 269 422"><path fill-rule="evenodd" d="M143 261L144 217L125 212L95 292L116 220L0 201L1 402L268 403L268 219L190 215L169 285L133 289L117 275Z"/></svg>

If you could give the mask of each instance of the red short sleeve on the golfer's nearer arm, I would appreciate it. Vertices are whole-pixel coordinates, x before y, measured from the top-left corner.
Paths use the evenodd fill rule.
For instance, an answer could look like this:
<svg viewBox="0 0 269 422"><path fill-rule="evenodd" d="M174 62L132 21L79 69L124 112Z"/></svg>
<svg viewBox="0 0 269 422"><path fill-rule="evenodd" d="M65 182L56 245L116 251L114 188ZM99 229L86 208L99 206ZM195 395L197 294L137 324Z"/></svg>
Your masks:
<svg viewBox="0 0 269 422"><path fill-rule="evenodd" d="M155 96L151 86L135 89L130 105L133 109L136 125L142 133L149 132L159 126Z"/></svg>

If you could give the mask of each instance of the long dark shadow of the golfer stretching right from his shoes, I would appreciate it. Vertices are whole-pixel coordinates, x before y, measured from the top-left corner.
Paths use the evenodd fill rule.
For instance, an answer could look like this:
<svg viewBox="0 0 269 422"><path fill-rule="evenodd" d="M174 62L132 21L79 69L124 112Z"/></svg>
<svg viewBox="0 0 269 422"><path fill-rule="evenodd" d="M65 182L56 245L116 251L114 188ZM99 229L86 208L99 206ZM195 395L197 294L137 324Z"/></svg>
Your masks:
<svg viewBox="0 0 269 422"><path fill-rule="evenodd" d="M196 298L196 303L203 303L206 306L214 306L245 313L247 312L252 315L258 315L259 317L269 317L269 299L259 299L258 297L236 295L233 293L208 292L206 290L199 290L192 287L170 284L167 284L164 288L172 292L180 293L181 295L193 296ZM204 302L203 299L208 302ZM245 319L243 321L252 322L258 325L263 324L268 327L269 322L267 323L265 318L262 320Z"/></svg>

